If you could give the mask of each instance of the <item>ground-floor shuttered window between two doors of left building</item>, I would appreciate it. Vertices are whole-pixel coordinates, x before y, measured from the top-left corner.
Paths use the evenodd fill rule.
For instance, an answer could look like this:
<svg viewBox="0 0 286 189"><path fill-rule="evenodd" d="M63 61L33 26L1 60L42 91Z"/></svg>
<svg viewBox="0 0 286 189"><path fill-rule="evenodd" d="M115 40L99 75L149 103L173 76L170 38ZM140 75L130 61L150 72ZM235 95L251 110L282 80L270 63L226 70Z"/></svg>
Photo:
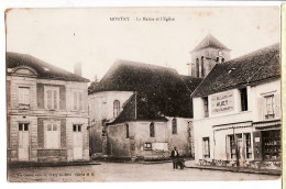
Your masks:
<svg viewBox="0 0 286 189"><path fill-rule="evenodd" d="M57 149L61 144L61 127L57 122L47 122L45 127L45 148Z"/></svg>

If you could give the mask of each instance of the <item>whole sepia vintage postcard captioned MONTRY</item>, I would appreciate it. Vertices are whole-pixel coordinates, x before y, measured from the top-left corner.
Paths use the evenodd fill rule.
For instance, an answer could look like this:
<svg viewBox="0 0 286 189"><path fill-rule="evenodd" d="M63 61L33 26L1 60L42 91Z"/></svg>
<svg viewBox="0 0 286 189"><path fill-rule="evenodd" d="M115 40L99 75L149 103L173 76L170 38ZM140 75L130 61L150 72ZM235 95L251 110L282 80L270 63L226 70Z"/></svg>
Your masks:
<svg viewBox="0 0 286 189"><path fill-rule="evenodd" d="M279 7L8 9L10 182L277 180Z"/></svg>

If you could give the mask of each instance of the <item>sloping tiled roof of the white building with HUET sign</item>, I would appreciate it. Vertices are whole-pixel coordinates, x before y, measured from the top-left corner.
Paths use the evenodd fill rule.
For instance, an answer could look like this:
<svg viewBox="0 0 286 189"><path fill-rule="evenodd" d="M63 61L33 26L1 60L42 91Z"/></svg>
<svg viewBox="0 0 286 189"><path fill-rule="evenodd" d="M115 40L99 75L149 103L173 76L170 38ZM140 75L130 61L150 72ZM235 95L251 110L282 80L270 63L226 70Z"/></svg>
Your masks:
<svg viewBox="0 0 286 189"><path fill-rule="evenodd" d="M217 64L191 97L204 97L280 76L279 44Z"/></svg>

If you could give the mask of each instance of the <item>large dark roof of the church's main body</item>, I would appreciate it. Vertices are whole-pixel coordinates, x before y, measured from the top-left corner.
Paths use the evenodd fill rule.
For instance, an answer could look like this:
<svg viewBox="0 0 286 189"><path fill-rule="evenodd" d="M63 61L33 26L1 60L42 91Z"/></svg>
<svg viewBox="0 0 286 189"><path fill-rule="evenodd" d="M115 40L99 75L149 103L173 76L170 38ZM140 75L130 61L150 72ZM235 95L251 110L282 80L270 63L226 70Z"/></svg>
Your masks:
<svg viewBox="0 0 286 189"><path fill-rule="evenodd" d="M189 96L200 80L180 76L173 68L117 60L90 93L136 91L112 124L134 120L166 121L165 116L193 118Z"/></svg>

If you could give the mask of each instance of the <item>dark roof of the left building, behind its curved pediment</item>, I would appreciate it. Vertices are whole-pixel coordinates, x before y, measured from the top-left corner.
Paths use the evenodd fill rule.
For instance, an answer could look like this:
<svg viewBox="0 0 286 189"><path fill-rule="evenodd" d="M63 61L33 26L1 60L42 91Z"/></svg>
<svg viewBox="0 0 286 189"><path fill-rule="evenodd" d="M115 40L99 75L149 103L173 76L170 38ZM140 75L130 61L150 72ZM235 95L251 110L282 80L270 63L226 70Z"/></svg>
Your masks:
<svg viewBox="0 0 286 189"><path fill-rule="evenodd" d="M7 68L16 68L18 66L31 67L37 73L37 78L41 79L89 82L89 80L84 77L61 69L28 54L7 52L6 63Z"/></svg>

